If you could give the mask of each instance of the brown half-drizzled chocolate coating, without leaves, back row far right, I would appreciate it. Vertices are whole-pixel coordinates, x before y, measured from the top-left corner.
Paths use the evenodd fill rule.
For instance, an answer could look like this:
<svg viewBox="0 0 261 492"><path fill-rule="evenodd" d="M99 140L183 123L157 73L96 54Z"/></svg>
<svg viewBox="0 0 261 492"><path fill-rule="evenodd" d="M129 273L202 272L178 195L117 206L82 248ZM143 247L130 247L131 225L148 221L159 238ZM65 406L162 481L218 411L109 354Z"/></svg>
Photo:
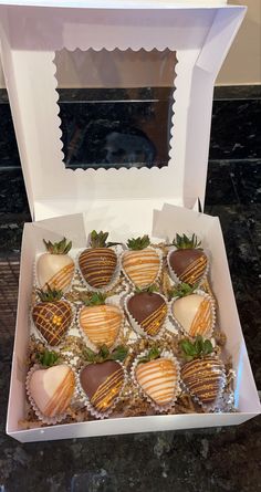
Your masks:
<svg viewBox="0 0 261 492"><path fill-rule="evenodd" d="M196 283L207 268L207 257L202 250L175 250L169 255L169 264L176 275L186 283Z"/></svg>

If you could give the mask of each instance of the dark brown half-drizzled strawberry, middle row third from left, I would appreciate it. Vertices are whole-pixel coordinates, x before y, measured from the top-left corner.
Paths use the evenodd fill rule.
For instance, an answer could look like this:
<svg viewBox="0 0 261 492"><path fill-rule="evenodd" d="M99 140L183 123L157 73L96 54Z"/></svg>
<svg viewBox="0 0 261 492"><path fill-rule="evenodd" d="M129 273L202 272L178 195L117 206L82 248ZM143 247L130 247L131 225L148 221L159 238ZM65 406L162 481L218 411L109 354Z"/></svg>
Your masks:
<svg viewBox="0 0 261 492"><path fill-rule="evenodd" d="M139 291L126 300L126 312L134 328L137 326L149 336L157 335L167 316L167 303L152 289ZM134 323L133 323L134 320Z"/></svg>

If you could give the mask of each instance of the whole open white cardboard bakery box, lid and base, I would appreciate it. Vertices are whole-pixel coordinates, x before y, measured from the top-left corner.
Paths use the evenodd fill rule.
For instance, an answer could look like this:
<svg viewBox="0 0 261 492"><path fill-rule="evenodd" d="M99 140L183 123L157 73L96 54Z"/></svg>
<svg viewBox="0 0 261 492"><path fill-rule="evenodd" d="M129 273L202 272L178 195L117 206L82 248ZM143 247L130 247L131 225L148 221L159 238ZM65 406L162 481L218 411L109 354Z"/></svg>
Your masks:
<svg viewBox="0 0 261 492"><path fill-rule="evenodd" d="M213 83L246 13L222 1L0 1L2 63L34 222L24 227L7 432L38 441L206 428L241 423L260 401L238 317L219 219L203 206ZM176 51L174 116L168 165L161 169L65 168L55 91L55 52L116 48ZM95 63L95 62L93 62ZM92 65L88 66L92 71ZM85 248L92 229L111 240L148 233L173 239L195 232L211 251L211 285L219 303L237 377L237 412L114 418L21 430L29 307L35 255L43 238Z"/></svg>

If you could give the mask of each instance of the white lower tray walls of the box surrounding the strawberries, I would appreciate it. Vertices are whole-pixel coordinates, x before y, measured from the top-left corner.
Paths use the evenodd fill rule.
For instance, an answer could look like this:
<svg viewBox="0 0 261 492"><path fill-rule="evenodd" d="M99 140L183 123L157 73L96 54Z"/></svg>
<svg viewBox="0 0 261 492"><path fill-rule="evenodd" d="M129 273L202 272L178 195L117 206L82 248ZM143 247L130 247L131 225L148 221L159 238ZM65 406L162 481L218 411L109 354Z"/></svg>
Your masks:
<svg viewBox="0 0 261 492"><path fill-rule="evenodd" d="M116 233L117 240L126 240L124 210L118 211L117 217L111 219L111 223L117 222L117 231L124 231L122 238L118 232ZM106 217L103 218L103 220L96 219L96 228L102 229L105 221ZM132 223L135 228L135 217ZM106 222L106 224L111 231L111 238L114 240L114 229L109 227L108 222ZM210 250L211 285L219 303L219 323L227 334L228 342L226 349L232 355L233 367L237 371L234 396L238 412L108 418L104 421L66 423L41 429L19 430L18 421L25 417L24 381L27 376L25 357L29 341L28 313L32 292L35 255L43 251L43 238L59 240L63 235L66 235L72 239L75 249L85 248L86 238L92 227L93 223L86 220L86 214L46 219L25 226L22 244L19 313L13 352L7 432L21 441L65 439L79 436L102 436L142 432L145 430L228 426L240 423L259 414L259 397L237 313L219 219L166 205L161 211L155 210L154 221L150 223L150 228L146 228L145 231L158 239L173 238L176 232L195 232L202 239L203 247ZM132 227L132 224L129 224L129 227Z"/></svg>

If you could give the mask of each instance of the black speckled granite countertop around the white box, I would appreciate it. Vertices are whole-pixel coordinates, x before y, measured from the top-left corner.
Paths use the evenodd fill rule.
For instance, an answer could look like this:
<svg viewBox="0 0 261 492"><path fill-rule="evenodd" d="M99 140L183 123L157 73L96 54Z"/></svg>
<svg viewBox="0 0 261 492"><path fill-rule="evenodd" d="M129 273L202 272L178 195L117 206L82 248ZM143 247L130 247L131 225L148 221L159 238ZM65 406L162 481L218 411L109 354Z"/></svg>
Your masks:
<svg viewBox="0 0 261 492"><path fill-rule="evenodd" d="M220 92L220 98L216 98L205 210L221 220L238 310L259 389L261 132L258 134L257 125L260 114L261 100L257 92L246 96L239 91L232 98ZM229 132L223 128L223 122ZM23 223L30 220L30 214L21 170L18 166L8 168L10 154L3 155L0 140L0 163L6 164L0 169L0 306L1 302L7 311L10 306L0 327L0 492L261 491L260 417L230 428L27 444L6 436L19 251ZM1 274L7 268L14 279L11 296L8 295L11 282Z"/></svg>

